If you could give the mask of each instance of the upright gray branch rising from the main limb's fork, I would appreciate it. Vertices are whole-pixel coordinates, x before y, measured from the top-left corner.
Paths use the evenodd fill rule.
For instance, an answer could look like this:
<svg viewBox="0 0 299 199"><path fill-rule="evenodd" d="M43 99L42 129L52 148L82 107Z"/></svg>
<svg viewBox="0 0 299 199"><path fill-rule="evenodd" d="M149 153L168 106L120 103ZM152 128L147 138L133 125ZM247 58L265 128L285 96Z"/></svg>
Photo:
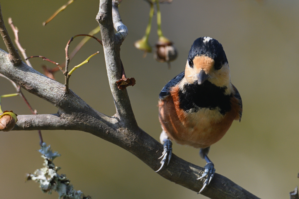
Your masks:
<svg viewBox="0 0 299 199"><path fill-rule="evenodd" d="M115 21L121 21L118 9L114 9L114 12L114 16L116 17ZM112 1L100 1L100 9L96 20L99 22L101 29L107 75L116 107L115 116L121 121L124 121L126 124L137 126L128 92L126 90L118 89L116 84L116 81L120 80L122 76L120 60L120 41L122 38L119 37L120 34L115 35L114 33L112 20ZM117 30L118 27L115 27L115 29Z"/></svg>

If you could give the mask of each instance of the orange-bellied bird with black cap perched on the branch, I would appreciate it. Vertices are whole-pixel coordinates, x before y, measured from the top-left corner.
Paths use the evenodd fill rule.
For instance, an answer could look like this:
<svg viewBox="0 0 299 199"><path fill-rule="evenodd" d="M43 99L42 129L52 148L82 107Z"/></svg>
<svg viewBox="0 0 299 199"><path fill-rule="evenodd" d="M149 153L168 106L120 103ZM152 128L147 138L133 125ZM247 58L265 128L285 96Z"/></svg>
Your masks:
<svg viewBox="0 0 299 199"><path fill-rule="evenodd" d="M172 156L172 141L200 148L207 162L201 193L215 174L208 158L210 146L219 141L234 120L241 121L242 99L231 84L230 68L222 44L210 37L197 38L189 51L185 70L170 80L159 94L159 121L163 144L161 167Z"/></svg>

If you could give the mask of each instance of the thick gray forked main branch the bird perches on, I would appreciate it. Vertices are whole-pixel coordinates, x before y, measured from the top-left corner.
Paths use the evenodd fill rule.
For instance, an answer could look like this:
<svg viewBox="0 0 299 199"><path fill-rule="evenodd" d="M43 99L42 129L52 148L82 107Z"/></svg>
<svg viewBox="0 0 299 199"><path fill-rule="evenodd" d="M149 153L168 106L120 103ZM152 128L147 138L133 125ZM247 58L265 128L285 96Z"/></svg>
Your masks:
<svg viewBox="0 0 299 199"><path fill-rule="evenodd" d="M120 45L128 32L120 19L117 5L112 0L101 0L96 17L101 29L109 85L116 107L114 116L97 112L72 90L65 92L65 85L42 75L24 62L14 65L10 55L3 50L0 50L0 73L59 110L58 114L53 115L19 115L14 130L76 129L89 132L126 149L150 168L157 170L163 146L138 127L126 89L119 90L116 84L122 76ZM116 34L114 28L118 31ZM158 174L198 192L202 188L202 181L196 178L202 172L202 167L173 154L170 164ZM202 194L215 199L258 198L219 174L215 174Z"/></svg>

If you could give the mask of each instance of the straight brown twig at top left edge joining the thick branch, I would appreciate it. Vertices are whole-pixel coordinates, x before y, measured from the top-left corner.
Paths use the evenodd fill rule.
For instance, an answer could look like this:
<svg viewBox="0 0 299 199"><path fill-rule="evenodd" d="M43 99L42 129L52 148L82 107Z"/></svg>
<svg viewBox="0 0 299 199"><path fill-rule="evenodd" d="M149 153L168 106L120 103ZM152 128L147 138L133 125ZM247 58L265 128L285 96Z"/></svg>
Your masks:
<svg viewBox="0 0 299 199"><path fill-rule="evenodd" d="M11 39L8 35L8 32L5 28L5 24L4 24L3 16L2 16L2 11L1 11L1 5L0 5L0 33L1 33L1 36L4 40L4 43L5 43L6 48L8 50L8 53L10 55L10 60L14 64L20 64L22 62L22 59L21 59L18 51L14 47L13 42L11 41Z"/></svg>

